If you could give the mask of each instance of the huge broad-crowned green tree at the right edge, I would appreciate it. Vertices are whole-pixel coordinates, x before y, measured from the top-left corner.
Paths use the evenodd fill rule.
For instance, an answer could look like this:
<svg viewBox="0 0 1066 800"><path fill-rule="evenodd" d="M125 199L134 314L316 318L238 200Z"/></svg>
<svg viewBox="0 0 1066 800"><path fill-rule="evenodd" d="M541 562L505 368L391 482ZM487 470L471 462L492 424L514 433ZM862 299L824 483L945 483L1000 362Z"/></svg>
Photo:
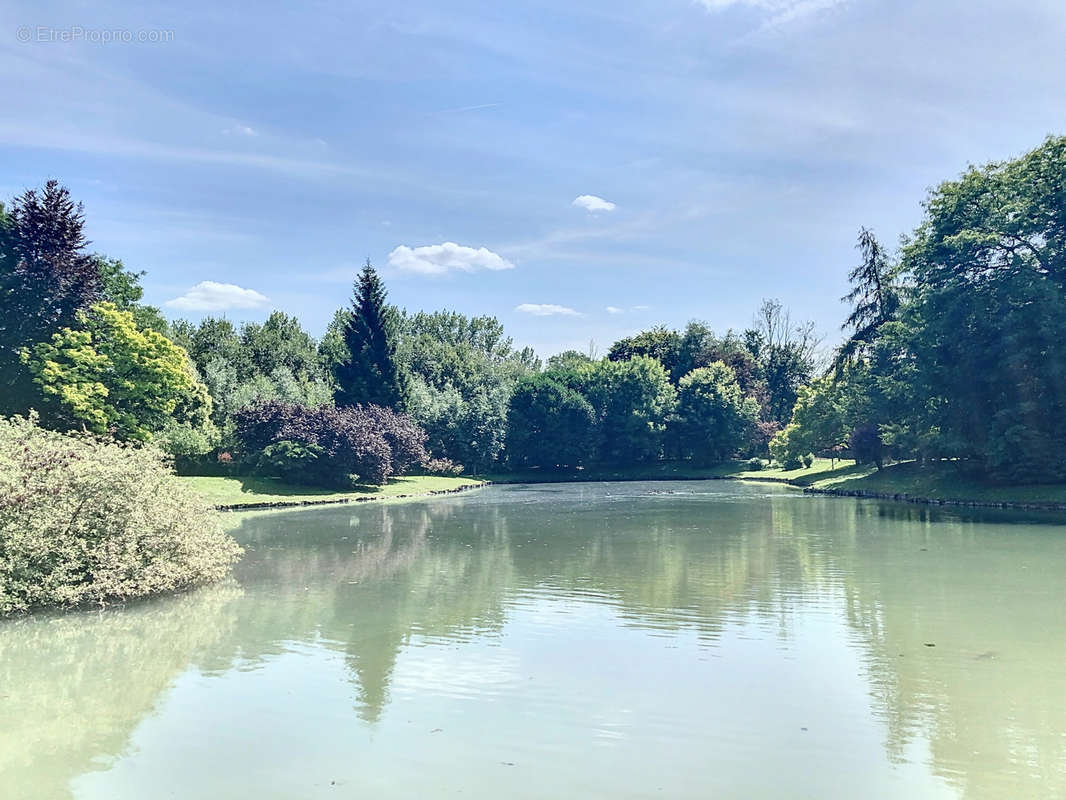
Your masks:
<svg viewBox="0 0 1066 800"><path fill-rule="evenodd" d="M1004 480L1066 479L1066 137L926 201L897 358L909 428Z"/></svg>

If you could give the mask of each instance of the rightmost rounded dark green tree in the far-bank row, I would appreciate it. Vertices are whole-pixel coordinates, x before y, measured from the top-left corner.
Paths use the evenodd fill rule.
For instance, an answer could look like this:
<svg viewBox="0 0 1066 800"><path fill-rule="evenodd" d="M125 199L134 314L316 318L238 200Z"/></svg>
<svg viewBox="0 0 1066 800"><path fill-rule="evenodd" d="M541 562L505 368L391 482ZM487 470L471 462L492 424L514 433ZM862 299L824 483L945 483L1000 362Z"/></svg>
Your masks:
<svg viewBox="0 0 1066 800"><path fill-rule="evenodd" d="M678 386L673 425L680 452L702 464L725 461L746 443L758 416L732 369L722 362L694 369Z"/></svg>

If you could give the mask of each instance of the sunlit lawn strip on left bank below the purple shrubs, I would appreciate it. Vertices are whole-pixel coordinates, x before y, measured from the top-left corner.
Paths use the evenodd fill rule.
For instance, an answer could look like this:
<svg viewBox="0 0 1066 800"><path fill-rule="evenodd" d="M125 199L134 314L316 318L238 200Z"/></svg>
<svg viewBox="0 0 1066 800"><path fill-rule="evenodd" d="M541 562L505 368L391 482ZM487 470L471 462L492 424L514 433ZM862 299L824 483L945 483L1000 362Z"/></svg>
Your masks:
<svg viewBox="0 0 1066 800"><path fill-rule="evenodd" d="M273 478L208 478L182 477L185 483L215 506L241 506L258 502L303 502L305 500L345 500L356 498L388 498L398 495L427 494L480 484L477 478L441 478L439 476L406 476L393 478L384 486L356 486L351 492L293 486Z"/></svg>

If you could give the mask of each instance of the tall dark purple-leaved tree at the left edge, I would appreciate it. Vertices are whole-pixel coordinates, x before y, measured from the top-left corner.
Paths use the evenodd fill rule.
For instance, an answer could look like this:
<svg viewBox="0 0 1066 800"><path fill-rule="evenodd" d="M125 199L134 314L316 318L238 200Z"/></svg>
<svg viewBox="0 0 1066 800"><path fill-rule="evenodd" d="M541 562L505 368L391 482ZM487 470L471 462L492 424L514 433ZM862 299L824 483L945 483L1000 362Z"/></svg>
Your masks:
<svg viewBox="0 0 1066 800"><path fill-rule="evenodd" d="M36 397L21 349L71 325L101 297L83 228L81 204L54 180L16 197L9 212L0 208L0 414L25 412Z"/></svg>

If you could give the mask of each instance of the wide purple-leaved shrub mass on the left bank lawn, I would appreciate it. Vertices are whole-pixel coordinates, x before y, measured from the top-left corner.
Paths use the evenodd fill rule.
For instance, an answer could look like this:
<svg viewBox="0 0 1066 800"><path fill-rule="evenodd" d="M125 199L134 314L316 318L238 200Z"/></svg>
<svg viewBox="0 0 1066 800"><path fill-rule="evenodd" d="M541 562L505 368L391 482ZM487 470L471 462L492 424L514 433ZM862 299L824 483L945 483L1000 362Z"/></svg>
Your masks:
<svg viewBox="0 0 1066 800"><path fill-rule="evenodd" d="M381 406L266 401L239 411L236 425L247 467L293 483L339 489L385 483L426 459L421 429Z"/></svg>

